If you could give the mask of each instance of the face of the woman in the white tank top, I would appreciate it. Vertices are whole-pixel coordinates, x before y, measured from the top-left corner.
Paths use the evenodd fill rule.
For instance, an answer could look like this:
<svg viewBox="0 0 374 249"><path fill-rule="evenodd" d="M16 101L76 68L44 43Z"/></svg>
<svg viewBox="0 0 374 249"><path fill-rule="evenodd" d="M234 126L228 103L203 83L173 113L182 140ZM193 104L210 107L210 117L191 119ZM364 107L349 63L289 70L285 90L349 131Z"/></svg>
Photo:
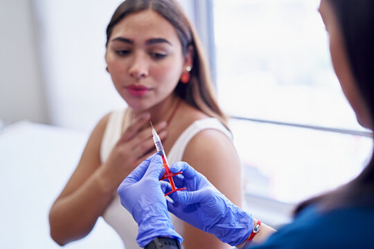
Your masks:
<svg viewBox="0 0 374 249"><path fill-rule="evenodd" d="M171 98L188 65L174 26L153 10L114 26L105 60L118 93L136 111Z"/></svg>

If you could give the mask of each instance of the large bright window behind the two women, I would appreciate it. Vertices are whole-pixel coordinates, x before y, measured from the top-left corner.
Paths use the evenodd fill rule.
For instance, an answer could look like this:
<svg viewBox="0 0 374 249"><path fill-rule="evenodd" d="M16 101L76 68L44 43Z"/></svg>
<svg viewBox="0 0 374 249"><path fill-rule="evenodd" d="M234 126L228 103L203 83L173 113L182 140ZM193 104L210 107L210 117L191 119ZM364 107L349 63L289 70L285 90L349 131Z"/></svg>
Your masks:
<svg viewBox="0 0 374 249"><path fill-rule="evenodd" d="M213 0L218 100L234 117L249 194L299 202L357 176L371 153L332 69L318 4Z"/></svg>

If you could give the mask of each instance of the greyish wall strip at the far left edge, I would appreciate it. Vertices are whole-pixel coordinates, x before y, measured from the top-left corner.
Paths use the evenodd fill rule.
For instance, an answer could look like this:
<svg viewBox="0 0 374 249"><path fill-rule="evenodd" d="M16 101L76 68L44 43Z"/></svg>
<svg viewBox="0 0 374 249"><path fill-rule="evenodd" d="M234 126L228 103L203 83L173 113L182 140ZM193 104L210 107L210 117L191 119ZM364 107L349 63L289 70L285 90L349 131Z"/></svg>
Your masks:
<svg viewBox="0 0 374 249"><path fill-rule="evenodd" d="M0 30L0 120L46 122L31 0L1 0Z"/></svg>

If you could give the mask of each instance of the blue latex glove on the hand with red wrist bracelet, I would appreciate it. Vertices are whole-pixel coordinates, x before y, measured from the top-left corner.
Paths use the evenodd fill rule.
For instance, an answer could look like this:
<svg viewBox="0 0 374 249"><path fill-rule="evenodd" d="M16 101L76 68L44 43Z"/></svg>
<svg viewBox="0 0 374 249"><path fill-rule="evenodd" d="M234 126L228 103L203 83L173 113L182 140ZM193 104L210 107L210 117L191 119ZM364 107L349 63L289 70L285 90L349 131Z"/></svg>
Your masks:
<svg viewBox="0 0 374 249"><path fill-rule="evenodd" d="M186 191L170 194L173 203L168 201L168 210L231 246L237 246L249 237L253 229L251 214L247 214L218 191L205 176L187 163L179 162L170 166L177 187L186 187ZM163 192L171 190L170 184L161 182Z"/></svg>

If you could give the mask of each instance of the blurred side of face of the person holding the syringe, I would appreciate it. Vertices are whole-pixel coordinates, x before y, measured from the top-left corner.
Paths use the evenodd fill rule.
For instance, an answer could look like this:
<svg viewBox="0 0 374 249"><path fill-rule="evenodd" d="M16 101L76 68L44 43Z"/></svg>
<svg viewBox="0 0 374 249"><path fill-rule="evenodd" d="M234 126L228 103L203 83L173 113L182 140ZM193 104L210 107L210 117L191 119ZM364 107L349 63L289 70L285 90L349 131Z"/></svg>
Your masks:
<svg viewBox="0 0 374 249"><path fill-rule="evenodd" d="M344 45L343 37L337 22L337 17L328 3L328 0L321 0L319 12L326 26L326 30L330 37L330 55L332 66L341 85L350 106L355 111L357 121L363 127L372 129L371 119L368 115L368 109L364 104L361 94L355 84L352 70L348 62L348 55Z"/></svg>

